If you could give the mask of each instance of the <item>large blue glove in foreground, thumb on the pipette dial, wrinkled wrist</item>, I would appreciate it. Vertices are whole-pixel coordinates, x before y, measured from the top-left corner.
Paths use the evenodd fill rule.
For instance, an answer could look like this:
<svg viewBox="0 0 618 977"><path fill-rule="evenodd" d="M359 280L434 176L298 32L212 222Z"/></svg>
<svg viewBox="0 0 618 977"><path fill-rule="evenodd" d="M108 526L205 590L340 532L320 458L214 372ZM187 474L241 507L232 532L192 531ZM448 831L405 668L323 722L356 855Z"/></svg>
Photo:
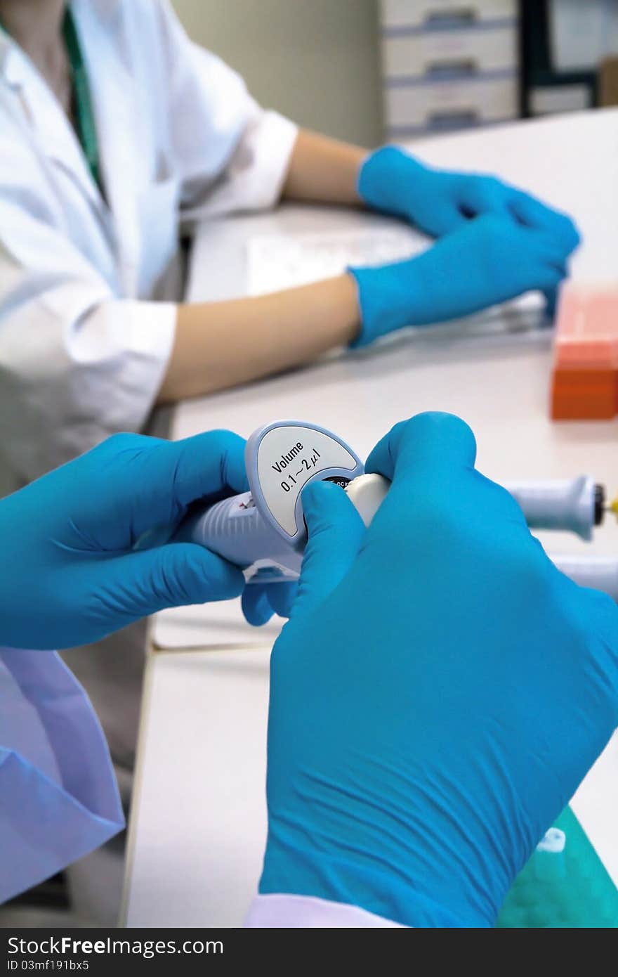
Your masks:
<svg viewBox="0 0 618 977"><path fill-rule="evenodd" d="M272 653L261 893L410 926L491 926L618 723L618 609L578 587L452 415L398 424L365 531L303 492L299 598Z"/></svg>

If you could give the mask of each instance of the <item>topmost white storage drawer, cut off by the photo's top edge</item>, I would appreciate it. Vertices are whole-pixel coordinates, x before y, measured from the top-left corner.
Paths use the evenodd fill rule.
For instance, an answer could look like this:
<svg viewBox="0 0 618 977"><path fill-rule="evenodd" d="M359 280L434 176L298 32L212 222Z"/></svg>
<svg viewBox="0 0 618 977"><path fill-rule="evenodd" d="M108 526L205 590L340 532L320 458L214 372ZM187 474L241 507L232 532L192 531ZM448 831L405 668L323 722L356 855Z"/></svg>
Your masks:
<svg viewBox="0 0 618 977"><path fill-rule="evenodd" d="M439 28L447 21L473 24L517 16L516 0L381 0L383 28Z"/></svg>

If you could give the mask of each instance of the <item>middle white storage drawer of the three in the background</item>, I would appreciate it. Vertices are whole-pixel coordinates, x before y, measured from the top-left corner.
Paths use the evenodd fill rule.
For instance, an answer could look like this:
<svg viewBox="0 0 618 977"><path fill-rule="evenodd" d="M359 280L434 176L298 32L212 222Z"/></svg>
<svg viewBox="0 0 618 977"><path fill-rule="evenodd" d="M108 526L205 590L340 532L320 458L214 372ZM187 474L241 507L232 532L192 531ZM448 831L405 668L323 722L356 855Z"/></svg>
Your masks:
<svg viewBox="0 0 618 977"><path fill-rule="evenodd" d="M517 32L515 25L507 25L492 30L432 30L385 37L382 62L387 79L513 69L517 64Z"/></svg>

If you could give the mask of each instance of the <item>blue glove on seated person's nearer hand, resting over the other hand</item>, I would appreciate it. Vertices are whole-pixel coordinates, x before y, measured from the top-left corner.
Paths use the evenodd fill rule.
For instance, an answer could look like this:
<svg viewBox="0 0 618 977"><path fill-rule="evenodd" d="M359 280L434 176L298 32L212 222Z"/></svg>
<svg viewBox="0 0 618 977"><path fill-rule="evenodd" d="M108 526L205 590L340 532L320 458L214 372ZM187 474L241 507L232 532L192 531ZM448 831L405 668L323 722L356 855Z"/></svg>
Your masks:
<svg viewBox="0 0 618 977"><path fill-rule="evenodd" d="M554 234L508 217L477 217L414 258L378 268L350 268L358 286L365 346L405 325L470 316L540 289L553 301L567 254Z"/></svg>

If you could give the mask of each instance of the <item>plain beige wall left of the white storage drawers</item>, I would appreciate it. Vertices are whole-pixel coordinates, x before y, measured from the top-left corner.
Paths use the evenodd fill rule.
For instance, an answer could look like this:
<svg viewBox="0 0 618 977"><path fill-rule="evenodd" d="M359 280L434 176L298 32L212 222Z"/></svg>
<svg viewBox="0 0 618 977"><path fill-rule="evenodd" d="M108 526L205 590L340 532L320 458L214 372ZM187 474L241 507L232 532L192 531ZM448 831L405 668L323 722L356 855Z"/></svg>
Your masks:
<svg viewBox="0 0 618 977"><path fill-rule="evenodd" d="M262 105L362 146L381 138L376 0L173 0Z"/></svg>

